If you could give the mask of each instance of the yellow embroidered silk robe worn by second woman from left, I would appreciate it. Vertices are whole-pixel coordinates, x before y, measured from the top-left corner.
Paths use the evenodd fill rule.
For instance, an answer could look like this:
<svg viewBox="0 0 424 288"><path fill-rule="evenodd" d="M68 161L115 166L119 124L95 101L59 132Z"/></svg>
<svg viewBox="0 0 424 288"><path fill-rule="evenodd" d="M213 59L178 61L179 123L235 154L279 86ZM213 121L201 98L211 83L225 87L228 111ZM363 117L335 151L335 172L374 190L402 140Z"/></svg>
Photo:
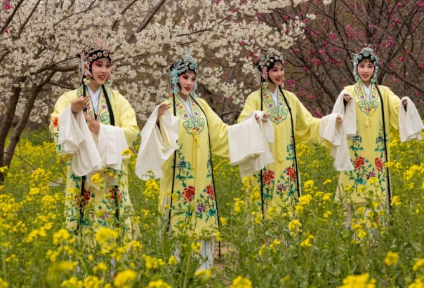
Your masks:
<svg viewBox="0 0 424 288"><path fill-rule="evenodd" d="M228 126L205 100L189 99L193 118L180 99L175 97L175 116L180 118L179 148L162 165L159 209L164 209L163 204L171 207L169 224L176 233L194 231L213 235L218 228L218 206L209 149L218 156L229 157ZM174 115L172 96L168 102ZM169 212L169 209L165 209L166 217Z"/></svg>

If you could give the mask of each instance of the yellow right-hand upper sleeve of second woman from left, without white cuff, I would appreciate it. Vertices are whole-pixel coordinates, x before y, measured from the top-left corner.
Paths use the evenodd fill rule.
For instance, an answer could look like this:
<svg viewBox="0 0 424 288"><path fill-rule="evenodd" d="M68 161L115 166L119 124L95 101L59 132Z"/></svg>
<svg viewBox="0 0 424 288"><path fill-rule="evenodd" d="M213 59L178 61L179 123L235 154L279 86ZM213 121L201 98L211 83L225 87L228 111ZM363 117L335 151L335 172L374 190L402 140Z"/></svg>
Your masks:
<svg viewBox="0 0 424 288"><path fill-rule="evenodd" d="M230 157L228 149L228 125L209 107L203 99L196 100L204 109L208 118L208 130L211 137L211 152L218 156Z"/></svg>

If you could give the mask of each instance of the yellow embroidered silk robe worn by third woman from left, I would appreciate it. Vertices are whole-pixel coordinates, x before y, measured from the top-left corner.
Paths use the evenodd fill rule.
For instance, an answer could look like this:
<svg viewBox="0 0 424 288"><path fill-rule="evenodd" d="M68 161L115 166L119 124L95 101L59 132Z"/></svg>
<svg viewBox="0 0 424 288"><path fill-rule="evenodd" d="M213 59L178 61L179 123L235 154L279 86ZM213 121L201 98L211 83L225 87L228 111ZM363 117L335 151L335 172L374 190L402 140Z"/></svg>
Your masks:
<svg viewBox="0 0 424 288"><path fill-rule="evenodd" d="M286 90L283 92L293 114L296 143L303 143L311 148L321 144L320 119L312 117L296 95ZM238 121L243 121L254 110L260 110L260 90L247 97ZM268 206L279 207L287 205L287 203L296 204L300 197L300 183L297 183L297 181L300 182L300 175L299 171L296 171L295 165L295 146L291 132L289 108L281 92L279 92L277 103L274 103L270 92L267 88L263 88L263 111L270 114L269 121L274 127L275 140L274 143L270 143L270 149L275 162L262 170L262 187L261 171L251 174L251 186L261 188L263 200L259 200L257 204L263 207L263 215L266 215Z"/></svg>

